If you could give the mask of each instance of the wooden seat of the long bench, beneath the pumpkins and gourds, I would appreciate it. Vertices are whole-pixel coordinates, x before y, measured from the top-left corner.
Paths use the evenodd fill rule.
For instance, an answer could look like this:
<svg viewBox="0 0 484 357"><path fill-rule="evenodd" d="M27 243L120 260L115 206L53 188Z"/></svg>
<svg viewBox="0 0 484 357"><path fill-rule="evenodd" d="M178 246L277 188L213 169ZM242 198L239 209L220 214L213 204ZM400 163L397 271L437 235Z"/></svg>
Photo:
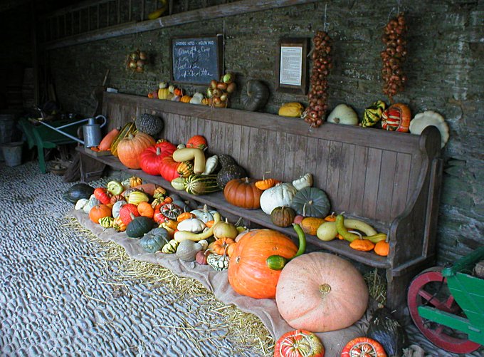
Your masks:
<svg viewBox="0 0 484 357"><path fill-rule="evenodd" d="M89 155L88 153L85 152L84 148L82 147L78 147L77 150L84 155ZM287 234L289 237L294 237L294 238L297 237L297 234L292 228L278 227L272 222L270 222L270 216L268 214L265 214L262 211L262 209L243 209L229 204L223 197L222 192L215 192L215 193L211 193L210 195L199 195L199 196L190 195L185 191L174 190L170 182L168 182L167 180L164 180L160 176L148 175L146 172L143 172L142 170L128 169L127 167L125 167L125 165L122 165L120 160L115 156L112 156L112 155L100 156L100 157L95 157L94 155L91 155L91 156L94 157L96 160L104 163L105 165L108 165L114 168L115 170L127 172L129 175L132 175L132 176L142 177L143 180L160 185L166 190L176 192L177 195L184 197L188 200L201 202L204 205L209 205L209 206L215 207L216 209L220 209L222 212L228 212L235 216L248 219L249 221L255 224L259 224L263 227L274 229L279 232L283 232L284 234ZM348 242L346 241L335 239L335 240L332 240L331 242L323 242L315 236L307 235L307 243L310 246L310 250L312 246L313 248L312 250L325 249L333 253L341 254L343 257L352 259L355 262L360 262L360 263L369 265L370 267L376 267L376 268L382 268L382 269L386 269L390 267L390 264L386 259L386 257L380 257L379 255L374 254L374 252L359 252L357 250L350 248Z"/></svg>

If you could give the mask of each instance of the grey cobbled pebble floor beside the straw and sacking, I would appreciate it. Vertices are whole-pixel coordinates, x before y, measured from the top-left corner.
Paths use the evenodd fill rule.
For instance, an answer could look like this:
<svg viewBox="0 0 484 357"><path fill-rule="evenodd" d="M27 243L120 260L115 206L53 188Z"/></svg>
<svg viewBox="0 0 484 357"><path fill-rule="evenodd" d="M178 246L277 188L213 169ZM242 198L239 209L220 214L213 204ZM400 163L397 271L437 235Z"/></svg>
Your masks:
<svg viewBox="0 0 484 357"><path fill-rule="evenodd" d="M70 185L36 162L0 162L1 356L259 356L225 331L161 327L213 319L204 299L113 285L95 244L61 227L73 207L61 198ZM428 355L457 356L408 331Z"/></svg>

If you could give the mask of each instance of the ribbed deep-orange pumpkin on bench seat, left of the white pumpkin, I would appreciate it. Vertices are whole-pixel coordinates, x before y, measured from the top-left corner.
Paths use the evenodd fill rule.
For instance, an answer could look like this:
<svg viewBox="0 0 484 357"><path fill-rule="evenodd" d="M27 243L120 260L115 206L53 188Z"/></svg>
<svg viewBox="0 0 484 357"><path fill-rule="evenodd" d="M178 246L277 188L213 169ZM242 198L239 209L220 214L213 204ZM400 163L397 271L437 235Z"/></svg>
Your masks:
<svg viewBox="0 0 484 357"><path fill-rule="evenodd" d="M258 209L261 208L262 192L256 187L256 180L245 177L228 181L223 189L223 196L231 205Z"/></svg>

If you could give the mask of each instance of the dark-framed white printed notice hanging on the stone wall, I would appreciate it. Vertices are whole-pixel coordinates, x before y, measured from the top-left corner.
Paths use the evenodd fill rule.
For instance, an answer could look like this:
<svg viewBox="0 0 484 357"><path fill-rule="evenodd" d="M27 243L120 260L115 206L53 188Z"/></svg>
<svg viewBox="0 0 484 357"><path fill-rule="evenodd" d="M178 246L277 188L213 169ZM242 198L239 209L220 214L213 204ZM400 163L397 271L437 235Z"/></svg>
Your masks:
<svg viewBox="0 0 484 357"><path fill-rule="evenodd" d="M307 94L307 38L281 38L276 61L275 89Z"/></svg>

